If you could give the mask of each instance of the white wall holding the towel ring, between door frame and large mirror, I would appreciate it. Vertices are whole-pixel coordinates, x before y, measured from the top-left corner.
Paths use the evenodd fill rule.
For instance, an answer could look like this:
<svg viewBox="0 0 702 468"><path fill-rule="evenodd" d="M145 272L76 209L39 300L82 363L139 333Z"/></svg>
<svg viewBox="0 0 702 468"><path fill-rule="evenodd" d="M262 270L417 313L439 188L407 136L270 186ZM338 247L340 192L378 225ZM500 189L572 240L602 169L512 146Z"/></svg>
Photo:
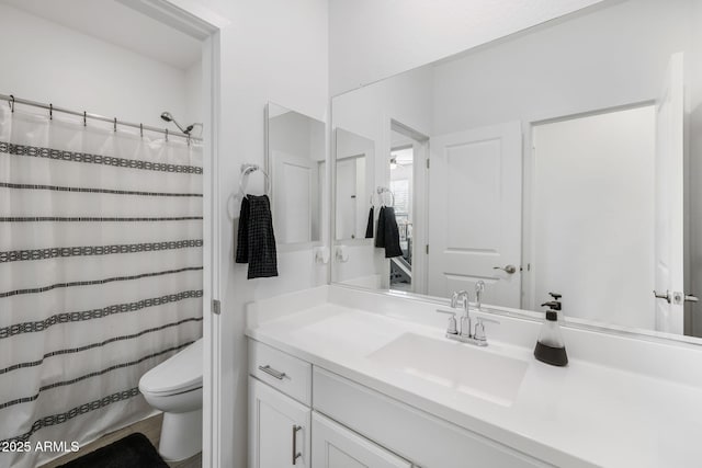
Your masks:
<svg viewBox="0 0 702 468"><path fill-rule="evenodd" d="M246 278L234 263L239 217L239 165L264 162L264 109L269 101L326 122L328 15L326 0L197 0L231 21L220 34L219 139L222 297L222 466L246 466L246 303L327 282L327 266L310 250L279 253L276 278ZM259 179L251 179L256 189ZM260 186L258 189L261 189ZM328 197L328 194L326 195ZM324 233L328 237L328 232Z"/></svg>

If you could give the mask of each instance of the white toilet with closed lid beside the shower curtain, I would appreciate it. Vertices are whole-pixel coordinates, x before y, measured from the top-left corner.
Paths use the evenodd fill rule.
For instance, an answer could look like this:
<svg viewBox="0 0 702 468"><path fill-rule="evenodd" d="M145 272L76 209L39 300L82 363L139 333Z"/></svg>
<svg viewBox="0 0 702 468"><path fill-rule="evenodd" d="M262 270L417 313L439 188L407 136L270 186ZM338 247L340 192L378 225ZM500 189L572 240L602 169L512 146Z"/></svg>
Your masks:
<svg viewBox="0 0 702 468"><path fill-rule="evenodd" d="M163 411L158 452L167 461L202 450L202 339L144 374L139 390Z"/></svg>

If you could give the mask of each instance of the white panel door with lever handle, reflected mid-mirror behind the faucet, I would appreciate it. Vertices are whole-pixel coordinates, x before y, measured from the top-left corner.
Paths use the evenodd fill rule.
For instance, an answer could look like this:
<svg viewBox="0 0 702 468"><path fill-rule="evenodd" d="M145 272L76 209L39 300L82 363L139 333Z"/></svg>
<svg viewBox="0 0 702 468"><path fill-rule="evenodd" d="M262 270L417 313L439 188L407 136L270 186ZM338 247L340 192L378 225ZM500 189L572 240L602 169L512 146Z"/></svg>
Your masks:
<svg viewBox="0 0 702 468"><path fill-rule="evenodd" d="M432 138L429 294L486 284L484 303L519 307L522 138L519 122ZM513 273L495 267L514 266Z"/></svg>

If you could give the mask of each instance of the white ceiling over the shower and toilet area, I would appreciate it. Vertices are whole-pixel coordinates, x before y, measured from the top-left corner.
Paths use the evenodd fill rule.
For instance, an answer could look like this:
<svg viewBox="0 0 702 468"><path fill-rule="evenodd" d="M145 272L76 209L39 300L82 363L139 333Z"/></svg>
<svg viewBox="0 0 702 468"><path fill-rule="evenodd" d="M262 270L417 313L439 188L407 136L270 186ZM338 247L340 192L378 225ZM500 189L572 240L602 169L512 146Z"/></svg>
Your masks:
<svg viewBox="0 0 702 468"><path fill-rule="evenodd" d="M200 61L197 39L115 0L1 2L183 70Z"/></svg>

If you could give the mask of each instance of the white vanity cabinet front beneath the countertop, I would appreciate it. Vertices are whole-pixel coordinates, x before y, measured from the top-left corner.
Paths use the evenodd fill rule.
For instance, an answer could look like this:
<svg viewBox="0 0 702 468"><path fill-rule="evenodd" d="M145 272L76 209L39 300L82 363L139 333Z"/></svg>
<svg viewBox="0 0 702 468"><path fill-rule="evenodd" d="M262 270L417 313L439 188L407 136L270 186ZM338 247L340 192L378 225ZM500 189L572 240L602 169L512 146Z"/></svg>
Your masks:
<svg viewBox="0 0 702 468"><path fill-rule="evenodd" d="M254 340L249 373L249 468L552 467Z"/></svg>

